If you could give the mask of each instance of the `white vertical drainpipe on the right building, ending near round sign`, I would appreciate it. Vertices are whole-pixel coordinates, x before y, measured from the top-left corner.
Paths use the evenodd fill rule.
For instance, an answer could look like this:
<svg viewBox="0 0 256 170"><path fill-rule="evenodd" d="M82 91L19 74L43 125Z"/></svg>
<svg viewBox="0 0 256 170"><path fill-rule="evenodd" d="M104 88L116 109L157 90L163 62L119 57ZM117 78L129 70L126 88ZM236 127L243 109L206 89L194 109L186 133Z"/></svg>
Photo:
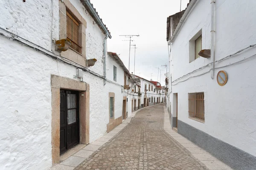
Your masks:
<svg viewBox="0 0 256 170"><path fill-rule="evenodd" d="M211 0L211 78L214 79L215 0Z"/></svg>

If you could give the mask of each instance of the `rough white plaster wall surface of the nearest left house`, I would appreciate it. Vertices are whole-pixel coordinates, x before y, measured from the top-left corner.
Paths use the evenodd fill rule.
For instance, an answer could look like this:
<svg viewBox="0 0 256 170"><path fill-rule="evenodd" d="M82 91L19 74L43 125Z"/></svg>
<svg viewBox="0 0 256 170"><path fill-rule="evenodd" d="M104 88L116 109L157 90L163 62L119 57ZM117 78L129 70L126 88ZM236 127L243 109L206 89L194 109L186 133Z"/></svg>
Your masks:
<svg viewBox="0 0 256 170"><path fill-rule="evenodd" d="M103 75L105 35L93 25L80 1L71 3L87 21L86 57L98 60L89 69ZM51 9L51 0L1 1L0 26L50 51L51 34L53 40L58 40L58 0L53 0L53 22ZM3 36L0 36L0 56L0 169L48 169L52 165L50 75L73 79L76 67ZM103 86L102 79L87 72L84 82L90 84L90 142L93 142L106 133L108 92L114 91L121 98L121 88L108 82ZM116 116L120 114L119 106L118 100Z"/></svg>

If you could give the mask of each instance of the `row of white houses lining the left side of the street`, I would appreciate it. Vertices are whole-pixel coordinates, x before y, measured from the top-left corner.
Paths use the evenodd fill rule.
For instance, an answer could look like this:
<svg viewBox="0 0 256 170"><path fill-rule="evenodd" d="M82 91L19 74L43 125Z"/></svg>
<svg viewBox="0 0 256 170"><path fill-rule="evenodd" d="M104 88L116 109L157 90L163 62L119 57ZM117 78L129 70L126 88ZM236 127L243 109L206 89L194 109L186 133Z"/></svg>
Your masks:
<svg viewBox="0 0 256 170"><path fill-rule="evenodd" d="M107 52L111 34L89 0L2 0L0 16L0 170L47 170L165 101Z"/></svg>

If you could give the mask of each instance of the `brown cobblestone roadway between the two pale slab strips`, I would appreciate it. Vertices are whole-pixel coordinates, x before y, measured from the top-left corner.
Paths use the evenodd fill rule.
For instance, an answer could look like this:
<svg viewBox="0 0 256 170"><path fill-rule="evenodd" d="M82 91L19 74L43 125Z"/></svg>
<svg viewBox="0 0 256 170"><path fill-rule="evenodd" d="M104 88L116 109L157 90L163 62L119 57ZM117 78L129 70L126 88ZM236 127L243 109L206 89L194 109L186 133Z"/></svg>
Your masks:
<svg viewBox="0 0 256 170"><path fill-rule="evenodd" d="M208 170L163 130L163 106L139 111L75 170Z"/></svg>

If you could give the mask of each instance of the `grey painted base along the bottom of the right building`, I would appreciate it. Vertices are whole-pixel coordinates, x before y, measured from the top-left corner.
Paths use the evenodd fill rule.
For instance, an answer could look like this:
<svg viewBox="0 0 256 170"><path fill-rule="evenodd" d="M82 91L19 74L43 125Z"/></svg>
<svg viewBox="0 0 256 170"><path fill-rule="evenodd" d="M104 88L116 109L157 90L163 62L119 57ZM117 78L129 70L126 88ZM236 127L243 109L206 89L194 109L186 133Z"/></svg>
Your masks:
<svg viewBox="0 0 256 170"><path fill-rule="evenodd" d="M256 170L255 156L210 136L180 120L178 120L178 133L211 153L234 170Z"/></svg>

